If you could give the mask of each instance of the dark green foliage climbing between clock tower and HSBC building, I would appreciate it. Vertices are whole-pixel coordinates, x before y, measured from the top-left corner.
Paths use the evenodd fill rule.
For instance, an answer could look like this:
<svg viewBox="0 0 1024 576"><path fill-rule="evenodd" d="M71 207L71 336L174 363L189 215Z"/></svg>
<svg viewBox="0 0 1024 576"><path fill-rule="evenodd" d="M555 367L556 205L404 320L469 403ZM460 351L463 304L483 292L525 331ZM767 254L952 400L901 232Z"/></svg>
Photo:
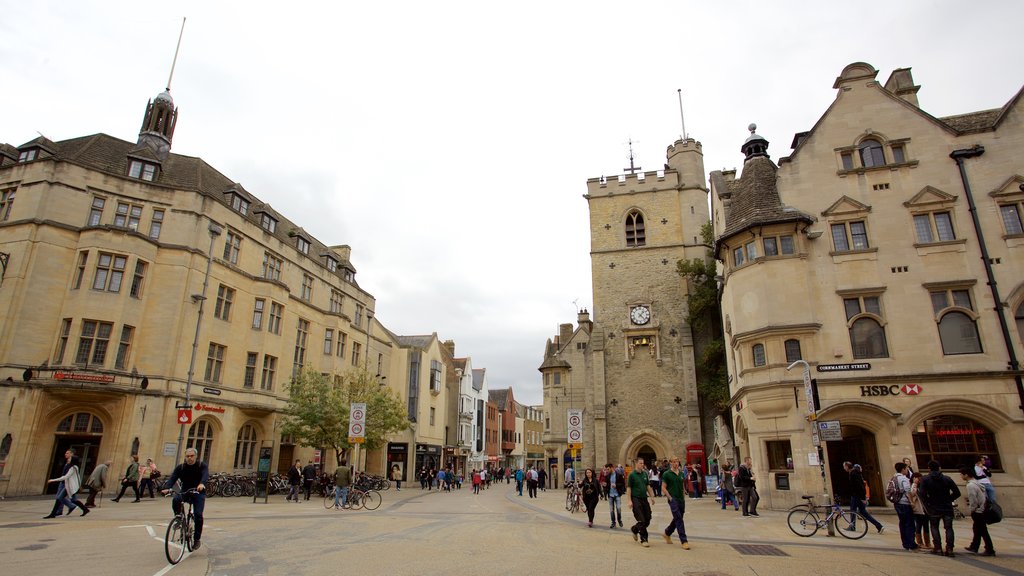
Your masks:
<svg viewBox="0 0 1024 576"><path fill-rule="evenodd" d="M700 237L706 246L714 242L715 231L711 222L700 227ZM699 351L697 362L697 392L719 409L729 402L729 382L725 362L725 338L722 335L722 306L718 298L718 282L715 279L715 259L709 250L705 258L679 260L676 272L690 283L687 296L689 315L686 321L697 333L711 335Z"/></svg>

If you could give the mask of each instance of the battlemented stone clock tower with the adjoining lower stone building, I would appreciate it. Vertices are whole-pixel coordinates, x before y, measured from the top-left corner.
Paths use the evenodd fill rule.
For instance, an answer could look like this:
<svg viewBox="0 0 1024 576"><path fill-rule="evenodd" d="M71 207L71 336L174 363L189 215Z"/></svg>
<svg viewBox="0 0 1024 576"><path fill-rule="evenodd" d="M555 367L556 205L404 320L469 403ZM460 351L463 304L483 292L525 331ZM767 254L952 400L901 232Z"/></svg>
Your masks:
<svg viewBox="0 0 1024 576"><path fill-rule="evenodd" d="M709 220L700 143L669 147L664 169L587 181L594 319L562 324L549 340L544 446L549 472L579 464L648 461L672 455L707 464L696 392L694 335L686 322L681 259L705 258ZM583 410L582 438L568 438L569 410ZM707 469L707 468L705 468Z"/></svg>

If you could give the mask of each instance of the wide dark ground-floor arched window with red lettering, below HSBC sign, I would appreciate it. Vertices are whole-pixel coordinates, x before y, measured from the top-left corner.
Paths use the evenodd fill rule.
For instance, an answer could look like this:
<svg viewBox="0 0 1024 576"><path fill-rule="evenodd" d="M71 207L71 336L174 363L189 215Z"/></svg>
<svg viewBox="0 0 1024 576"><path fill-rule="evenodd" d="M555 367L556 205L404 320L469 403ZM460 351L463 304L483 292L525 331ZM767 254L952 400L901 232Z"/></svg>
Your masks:
<svg viewBox="0 0 1024 576"><path fill-rule="evenodd" d="M991 469L1002 468L995 435L970 418L951 415L929 418L918 425L912 436L920 470L928 469L929 460L937 460L949 469L973 464L979 456L991 458Z"/></svg>

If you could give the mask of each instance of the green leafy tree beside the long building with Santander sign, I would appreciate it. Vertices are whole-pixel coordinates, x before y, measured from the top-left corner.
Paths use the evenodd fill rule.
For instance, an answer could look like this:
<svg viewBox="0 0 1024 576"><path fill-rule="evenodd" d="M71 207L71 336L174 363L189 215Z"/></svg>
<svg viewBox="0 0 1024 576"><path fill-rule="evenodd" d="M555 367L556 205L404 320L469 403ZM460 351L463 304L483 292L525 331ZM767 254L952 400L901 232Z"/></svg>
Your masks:
<svg viewBox="0 0 1024 576"><path fill-rule="evenodd" d="M367 405L367 450L384 446L387 437L409 427L406 407L390 388L366 370L321 374L306 366L289 384L283 434L305 446L332 448L337 461L352 445L348 416L353 402Z"/></svg>

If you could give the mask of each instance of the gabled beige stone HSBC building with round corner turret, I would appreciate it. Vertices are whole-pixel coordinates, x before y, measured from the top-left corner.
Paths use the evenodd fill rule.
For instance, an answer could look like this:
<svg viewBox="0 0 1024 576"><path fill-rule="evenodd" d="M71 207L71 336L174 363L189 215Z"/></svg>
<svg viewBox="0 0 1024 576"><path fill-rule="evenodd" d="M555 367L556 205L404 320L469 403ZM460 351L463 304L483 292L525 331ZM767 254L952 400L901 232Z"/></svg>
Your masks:
<svg viewBox="0 0 1024 576"><path fill-rule="evenodd" d="M984 454L1020 515L1021 92L936 118L909 69L885 84L877 74L844 69L836 100L777 166L754 133L741 177L712 173L736 442L772 508L845 497L845 460L888 505L895 462L927 472L935 458L958 481L954 468ZM786 370L797 360L816 379L819 427L841 426L842 440L821 442L824 483L803 369Z"/></svg>

